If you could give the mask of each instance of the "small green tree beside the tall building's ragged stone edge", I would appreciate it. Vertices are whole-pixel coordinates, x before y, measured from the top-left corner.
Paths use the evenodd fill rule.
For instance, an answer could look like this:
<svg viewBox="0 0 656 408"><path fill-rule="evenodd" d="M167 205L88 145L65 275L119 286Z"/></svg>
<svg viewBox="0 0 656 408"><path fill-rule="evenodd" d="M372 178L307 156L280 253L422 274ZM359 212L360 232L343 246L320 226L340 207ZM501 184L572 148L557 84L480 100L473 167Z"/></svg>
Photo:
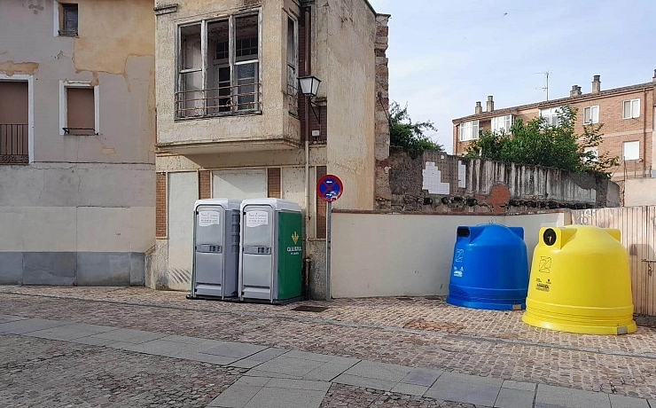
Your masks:
<svg viewBox="0 0 656 408"><path fill-rule="evenodd" d="M433 142L424 132L436 131L431 121L412 122L408 114L408 105L401 108L396 102L389 106L389 141L390 145L407 150L443 152L442 145Z"/></svg>

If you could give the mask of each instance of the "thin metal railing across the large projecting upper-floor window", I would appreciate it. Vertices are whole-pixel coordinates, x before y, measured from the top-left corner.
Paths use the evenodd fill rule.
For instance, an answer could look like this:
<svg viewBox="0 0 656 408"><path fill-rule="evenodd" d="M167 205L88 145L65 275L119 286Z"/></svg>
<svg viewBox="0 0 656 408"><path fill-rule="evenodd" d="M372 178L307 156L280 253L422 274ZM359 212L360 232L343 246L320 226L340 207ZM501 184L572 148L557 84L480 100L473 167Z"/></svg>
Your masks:
<svg viewBox="0 0 656 408"><path fill-rule="evenodd" d="M176 119L244 114L262 110L259 82L176 92Z"/></svg>

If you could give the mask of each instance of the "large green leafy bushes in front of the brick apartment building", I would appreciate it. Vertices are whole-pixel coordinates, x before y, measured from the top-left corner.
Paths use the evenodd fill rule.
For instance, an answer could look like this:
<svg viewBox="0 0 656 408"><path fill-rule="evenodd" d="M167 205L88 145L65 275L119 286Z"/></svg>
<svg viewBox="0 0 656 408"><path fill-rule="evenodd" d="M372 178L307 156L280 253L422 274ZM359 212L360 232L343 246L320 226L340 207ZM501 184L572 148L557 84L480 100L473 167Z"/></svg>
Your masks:
<svg viewBox="0 0 656 408"><path fill-rule="evenodd" d="M609 176L608 169L619 164L618 157L607 153L598 158L586 147L602 141L603 124L583 126L582 135L574 133L577 109L563 106L558 125L550 125L543 117L524 122L515 121L510 133L483 130L478 140L467 146L466 157L508 163L565 169L574 172L593 171Z"/></svg>

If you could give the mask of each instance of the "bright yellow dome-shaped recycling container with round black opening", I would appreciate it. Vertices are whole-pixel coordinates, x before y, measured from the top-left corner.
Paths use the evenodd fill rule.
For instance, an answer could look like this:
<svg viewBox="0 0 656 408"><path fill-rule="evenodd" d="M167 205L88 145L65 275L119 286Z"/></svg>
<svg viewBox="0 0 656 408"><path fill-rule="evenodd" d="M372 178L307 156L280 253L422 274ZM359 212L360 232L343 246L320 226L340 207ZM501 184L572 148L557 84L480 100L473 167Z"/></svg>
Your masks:
<svg viewBox="0 0 656 408"><path fill-rule="evenodd" d="M636 332L629 254L619 230L542 228L528 284L531 326L583 334Z"/></svg>

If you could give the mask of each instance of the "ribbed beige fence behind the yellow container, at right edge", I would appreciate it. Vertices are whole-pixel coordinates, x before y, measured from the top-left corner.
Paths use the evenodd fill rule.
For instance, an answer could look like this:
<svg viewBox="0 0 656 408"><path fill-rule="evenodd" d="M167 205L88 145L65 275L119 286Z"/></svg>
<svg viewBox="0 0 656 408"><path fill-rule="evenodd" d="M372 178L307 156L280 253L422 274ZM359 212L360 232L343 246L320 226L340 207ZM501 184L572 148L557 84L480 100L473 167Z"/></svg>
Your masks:
<svg viewBox="0 0 656 408"><path fill-rule="evenodd" d="M572 222L621 231L621 243L629 250L636 314L656 316L656 206L575 210Z"/></svg>

